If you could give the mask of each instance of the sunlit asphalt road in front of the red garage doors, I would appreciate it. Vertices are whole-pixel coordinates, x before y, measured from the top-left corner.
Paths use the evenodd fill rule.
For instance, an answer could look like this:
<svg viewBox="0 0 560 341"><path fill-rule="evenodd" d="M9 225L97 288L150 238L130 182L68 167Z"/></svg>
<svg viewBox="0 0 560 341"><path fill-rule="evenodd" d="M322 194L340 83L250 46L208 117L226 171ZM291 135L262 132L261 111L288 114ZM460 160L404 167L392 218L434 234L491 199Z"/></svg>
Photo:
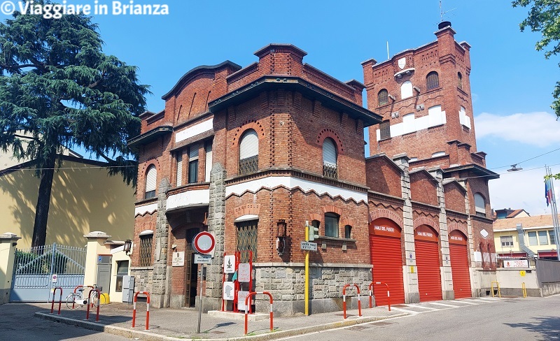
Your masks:
<svg viewBox="0 0 560 341"><path fill-rule="evenodd" d="M465 300L465 303L454 300L439 304L400 306L397 309L413 313L282 340L560 340L560 296Z"/></svg>

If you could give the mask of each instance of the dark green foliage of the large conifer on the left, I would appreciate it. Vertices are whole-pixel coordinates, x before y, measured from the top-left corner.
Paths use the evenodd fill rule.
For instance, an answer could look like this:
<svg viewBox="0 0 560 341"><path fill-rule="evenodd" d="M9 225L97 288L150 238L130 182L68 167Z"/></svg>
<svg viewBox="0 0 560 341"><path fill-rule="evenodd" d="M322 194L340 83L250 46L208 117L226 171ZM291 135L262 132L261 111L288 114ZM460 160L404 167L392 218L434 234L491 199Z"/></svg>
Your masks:
<svg viewBox="0 0 560 341"><path fill-rule="evenodd" d="M81 146L106 160L109 174L135 184L127 140L139 134L148 86L139 84L135 66L105 55L102 45L97 24L84 15L54 20L15 12L0 23L4 152L11 148L40 169L64 147Z"/></svg>

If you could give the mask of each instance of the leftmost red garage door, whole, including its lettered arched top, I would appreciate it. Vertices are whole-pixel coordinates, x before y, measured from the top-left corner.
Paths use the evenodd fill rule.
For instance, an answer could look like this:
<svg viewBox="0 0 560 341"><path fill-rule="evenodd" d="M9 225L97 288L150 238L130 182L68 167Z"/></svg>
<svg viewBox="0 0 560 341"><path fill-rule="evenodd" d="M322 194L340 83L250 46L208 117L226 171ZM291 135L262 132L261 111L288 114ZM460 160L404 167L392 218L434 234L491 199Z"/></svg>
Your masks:
<svg viewBox="0 0 560 341"><path fill-rule="evenodd" d="M373 282L386 282L391 290L391 303L405 303L402 282L400 227L391 219L379 218L370 223L370 253ZM373 286L375 305L387 305L386 286Z"/></svg>

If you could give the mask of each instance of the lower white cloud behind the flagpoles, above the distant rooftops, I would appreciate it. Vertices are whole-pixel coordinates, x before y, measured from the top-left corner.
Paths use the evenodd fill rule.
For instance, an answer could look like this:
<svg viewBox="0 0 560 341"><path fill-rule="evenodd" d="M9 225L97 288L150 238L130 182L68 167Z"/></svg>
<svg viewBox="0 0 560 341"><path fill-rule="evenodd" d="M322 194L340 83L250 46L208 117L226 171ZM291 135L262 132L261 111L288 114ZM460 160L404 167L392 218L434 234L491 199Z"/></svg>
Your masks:
<svg viewBox="0 0 560 341"><path fill-rule="evenodd" d="M490 204L494 210L523 208L531 216L552 214L551 206L547 206L545 199L545 169L525 166L519 172L501 173L497 180L489 181ZM560 169L552 167L552 173L559 173ZM554 181L556 204L560 199L560 182Z"/></svg>

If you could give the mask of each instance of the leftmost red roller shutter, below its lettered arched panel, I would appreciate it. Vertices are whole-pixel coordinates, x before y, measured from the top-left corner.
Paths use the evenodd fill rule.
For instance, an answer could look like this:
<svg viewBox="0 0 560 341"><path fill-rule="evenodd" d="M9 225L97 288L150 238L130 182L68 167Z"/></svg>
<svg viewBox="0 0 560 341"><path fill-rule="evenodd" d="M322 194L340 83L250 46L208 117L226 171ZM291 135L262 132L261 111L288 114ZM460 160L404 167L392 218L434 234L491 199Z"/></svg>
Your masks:
<svg viewBox="0 0 560 341"><path fill-rule="evenodd" d="M400 238L370 235L373 264L373 282L386 282L391 290L391 303L405 303L405 285L402 282L402 252ZM374 285L375 305L387 305L384 285Z"/></svg>

